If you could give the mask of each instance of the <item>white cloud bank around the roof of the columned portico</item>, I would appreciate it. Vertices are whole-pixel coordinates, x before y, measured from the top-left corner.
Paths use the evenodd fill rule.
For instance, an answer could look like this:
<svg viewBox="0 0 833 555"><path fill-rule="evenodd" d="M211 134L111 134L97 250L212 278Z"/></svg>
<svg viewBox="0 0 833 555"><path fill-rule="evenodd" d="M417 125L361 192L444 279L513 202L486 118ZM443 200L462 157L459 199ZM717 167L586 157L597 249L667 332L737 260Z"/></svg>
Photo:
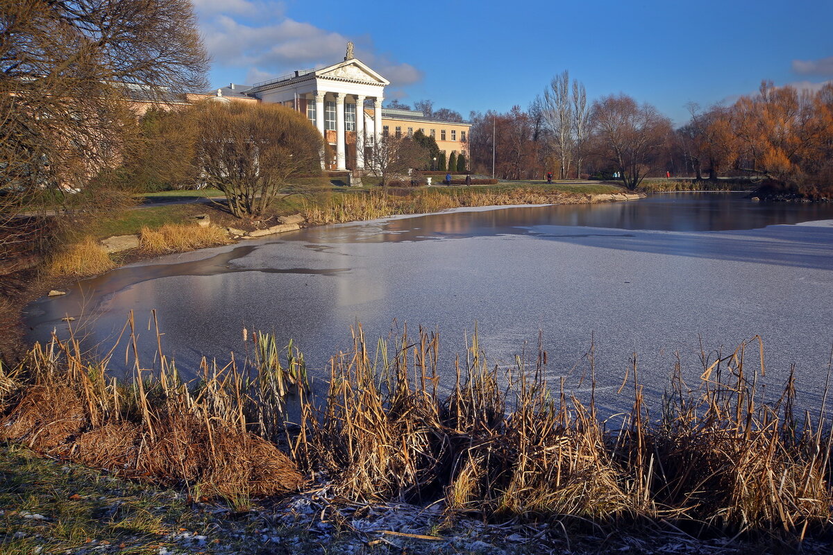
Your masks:
<svg viewBox="0 0 833 555"><path fill-rule="evenodd" d="M298 22L277 15L262 0L196 0L201 29L208 52L214 62L224 67L242 68L248 79L264 81L297 69L324 67L342 60L350 38L311 23ZM269 21L250 24L235 15L251 15L248 10L268 14ZM237 10L237 11L235 11ZM377 54L369 37L357 37L356 57L386 77L393 85L404 87L418 82L423 73L411 64L396 62ZM250 82L257 82L250 81Z"/></svg>

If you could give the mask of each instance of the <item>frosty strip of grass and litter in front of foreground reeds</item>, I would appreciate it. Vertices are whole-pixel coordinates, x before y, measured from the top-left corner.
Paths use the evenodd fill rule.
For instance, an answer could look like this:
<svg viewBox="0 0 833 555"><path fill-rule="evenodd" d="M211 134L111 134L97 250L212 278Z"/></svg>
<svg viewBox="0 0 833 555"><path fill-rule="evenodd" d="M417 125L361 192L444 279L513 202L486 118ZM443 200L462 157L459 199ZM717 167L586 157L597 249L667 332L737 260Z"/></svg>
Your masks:
<svg viewBox="0 0 833 555"><path fill-rule="evenodd" d="M192 488L192 492L198 488ZM196 495L196 494L195 494ZM198 496L197 496L198 497ZM354 503L321 485L279 500L209 503L0 446L0 553L789 553L796 546L697 540L670 526L610 533L585 524L483 523L439 503ZM815 540L803 553L829 553Z"/></svg>

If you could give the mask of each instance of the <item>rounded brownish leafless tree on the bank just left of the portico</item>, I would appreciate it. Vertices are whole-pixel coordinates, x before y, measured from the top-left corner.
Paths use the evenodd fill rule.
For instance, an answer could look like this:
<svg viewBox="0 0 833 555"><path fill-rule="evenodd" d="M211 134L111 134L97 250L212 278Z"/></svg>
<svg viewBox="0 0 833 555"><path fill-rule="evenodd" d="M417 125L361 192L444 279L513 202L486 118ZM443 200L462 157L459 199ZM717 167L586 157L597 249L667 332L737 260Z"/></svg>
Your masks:
<svg viewBox="0 0 833 555"><path fill-rule="evenodd" d="M197 107L202 179L234 216L262 216L294 176L321 171L322 136L307 117L278 104L204 102Z"/></svg>

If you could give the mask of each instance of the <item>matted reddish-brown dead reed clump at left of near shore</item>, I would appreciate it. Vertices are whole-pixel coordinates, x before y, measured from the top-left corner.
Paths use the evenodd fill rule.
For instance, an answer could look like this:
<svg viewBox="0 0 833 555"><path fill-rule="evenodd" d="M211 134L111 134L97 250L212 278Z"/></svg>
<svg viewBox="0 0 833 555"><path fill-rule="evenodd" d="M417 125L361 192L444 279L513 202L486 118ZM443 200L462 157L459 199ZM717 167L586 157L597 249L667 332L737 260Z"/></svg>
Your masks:
<svg viewBox="0 0 833 555"><path fill-rule="evenodd" d="M286 493L303 482L287 455L247 430L249 386L236 369L203 361L195 388L162 357L157 375L136 363L133 383L119 384L107 378L106 360L85 365L72 339L36 345L27 364L32 382L0 421L0 439L229 498Z"/></svg>

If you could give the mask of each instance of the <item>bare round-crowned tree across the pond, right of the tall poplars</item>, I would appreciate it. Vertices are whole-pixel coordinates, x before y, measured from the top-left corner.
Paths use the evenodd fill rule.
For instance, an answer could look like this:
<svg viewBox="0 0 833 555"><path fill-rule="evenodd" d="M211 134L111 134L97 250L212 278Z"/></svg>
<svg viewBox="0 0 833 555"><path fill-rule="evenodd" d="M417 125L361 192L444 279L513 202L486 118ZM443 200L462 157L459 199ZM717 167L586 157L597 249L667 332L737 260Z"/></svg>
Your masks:
<svg viewBox="0 0 833 555"><path fill-rule="evenodd" d="M638 105L627 95L593 102L591 125L596 131L599 155L613 165L622 184L631 191L661 160L672 132L666 116L650 104Z"/></svg>

